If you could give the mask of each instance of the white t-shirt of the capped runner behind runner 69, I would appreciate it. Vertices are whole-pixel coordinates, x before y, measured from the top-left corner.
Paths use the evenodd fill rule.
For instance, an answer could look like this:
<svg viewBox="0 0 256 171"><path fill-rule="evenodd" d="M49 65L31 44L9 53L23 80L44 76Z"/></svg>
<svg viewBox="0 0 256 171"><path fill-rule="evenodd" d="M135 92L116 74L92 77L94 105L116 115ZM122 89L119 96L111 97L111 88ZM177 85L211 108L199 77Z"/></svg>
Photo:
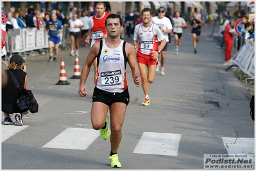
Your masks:
<svg viewBox="0 0 256 171"><path fill-rule="evenodd" d="M164 30L169 30L169 29L173 29L173 26L171 25L171 20L169 20L167 17L164 17L162 19L159 19L158 16L156 17L152 17L151 22L153 22L155 25L157 25L158 27L162 27L162 29ZM169 41L169 36L168 33L164 33L164 38L166 38L166 41ZM158 41L161 41L158 38Z"/></svg>

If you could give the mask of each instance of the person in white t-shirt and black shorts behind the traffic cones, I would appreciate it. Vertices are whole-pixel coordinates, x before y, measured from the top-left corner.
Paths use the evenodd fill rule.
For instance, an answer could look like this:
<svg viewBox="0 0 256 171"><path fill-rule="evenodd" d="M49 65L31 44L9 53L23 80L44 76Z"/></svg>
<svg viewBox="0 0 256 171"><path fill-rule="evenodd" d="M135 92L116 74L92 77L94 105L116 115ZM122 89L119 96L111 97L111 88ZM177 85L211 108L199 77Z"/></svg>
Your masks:
<svg viewBox="0 0 256 171"><path fill-rule="evenodd" d="M79 55L79 38L80 38L80 30L83 27L83 22L78 19L78 14L73 13L73 19L69 20L69 34L71 39L71 56L74 56L74 44L76 44L76 55Z"/></svg>

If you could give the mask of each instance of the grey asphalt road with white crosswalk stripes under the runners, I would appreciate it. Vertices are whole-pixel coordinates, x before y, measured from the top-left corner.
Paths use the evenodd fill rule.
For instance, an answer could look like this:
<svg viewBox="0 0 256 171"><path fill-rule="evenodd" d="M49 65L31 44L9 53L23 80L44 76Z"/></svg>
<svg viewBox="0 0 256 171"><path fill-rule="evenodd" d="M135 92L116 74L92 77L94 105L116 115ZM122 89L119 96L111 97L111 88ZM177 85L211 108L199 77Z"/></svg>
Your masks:
<svg viewBox="0 0 256 171"><path fill-rule="evenodd" d="M178 55L174 45L167 47L166 75L159 71L149 84L151 103L147 107L141 105L142 87L133 85L127 67L130 103L118 151L121 170L202 170L203 154L254 156L252 93L234 71L225 71L224 49L216 48L218 43L210 33L210 28L203 27L197 54L190 31L183 31ZM132 43L131 38L124 40ZM89 95L81 98L79 79L70 78L75 57L69 52L61 50L58 62L49 63L48 54L31 56L26 62L28 87L39 112L25 116L24 126L3 125L2 114L3 170L112 170L110 142L102 140L90 123L93 67L86 84ZM80 47L80 68L88 52L89 47ZM56 85L62 57L69 85ZM234 140L230 143L234 151L226 138ZM244 143L239 144L242 139ZM245 148L252 139L253 145Z"/></svg>

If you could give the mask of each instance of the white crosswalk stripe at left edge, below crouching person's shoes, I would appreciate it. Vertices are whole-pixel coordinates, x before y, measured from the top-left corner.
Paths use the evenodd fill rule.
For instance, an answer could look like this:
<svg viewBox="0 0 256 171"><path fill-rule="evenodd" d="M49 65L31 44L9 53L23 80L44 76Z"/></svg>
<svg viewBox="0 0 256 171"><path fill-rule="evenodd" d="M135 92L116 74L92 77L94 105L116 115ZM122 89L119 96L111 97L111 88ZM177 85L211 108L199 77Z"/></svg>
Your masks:
<svg viewBox="0 0 256 171"><path fill-rule="evenodd" d="M1 126L1 141L4 142L5 140L12 137L19 131L22 131L22 130L28 128L28 126L29 125L15 126L14 124L11 124L11 125L2 124L2 126Z"/></svg>

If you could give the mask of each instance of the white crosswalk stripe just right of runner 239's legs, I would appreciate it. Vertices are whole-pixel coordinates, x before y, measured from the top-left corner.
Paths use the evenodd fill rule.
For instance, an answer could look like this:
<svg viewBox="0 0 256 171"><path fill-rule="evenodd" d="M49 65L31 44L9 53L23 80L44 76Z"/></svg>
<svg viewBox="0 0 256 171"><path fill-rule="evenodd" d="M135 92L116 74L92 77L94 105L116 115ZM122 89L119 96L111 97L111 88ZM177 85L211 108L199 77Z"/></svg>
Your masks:
<svg viewBox="0 0 256 171"><path fill-rule="evenodd" d="M174 133L144 132L133 153L178 156L181 137Z"/></svg>

